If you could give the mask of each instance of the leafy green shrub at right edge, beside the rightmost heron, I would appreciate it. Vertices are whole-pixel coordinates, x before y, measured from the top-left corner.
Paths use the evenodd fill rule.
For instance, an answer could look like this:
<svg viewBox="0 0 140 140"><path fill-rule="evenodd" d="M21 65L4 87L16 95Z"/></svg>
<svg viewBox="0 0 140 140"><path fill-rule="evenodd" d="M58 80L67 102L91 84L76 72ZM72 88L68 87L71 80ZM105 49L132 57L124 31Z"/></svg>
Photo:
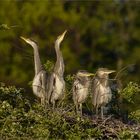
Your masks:
<svg viewBox="0 0 140 140"><path fill-rule="evenodd" d="M140 86L135 82L129 82L120 91L120 97L122 98L120 109L126 111L131 120L140 122Z"/></svg>

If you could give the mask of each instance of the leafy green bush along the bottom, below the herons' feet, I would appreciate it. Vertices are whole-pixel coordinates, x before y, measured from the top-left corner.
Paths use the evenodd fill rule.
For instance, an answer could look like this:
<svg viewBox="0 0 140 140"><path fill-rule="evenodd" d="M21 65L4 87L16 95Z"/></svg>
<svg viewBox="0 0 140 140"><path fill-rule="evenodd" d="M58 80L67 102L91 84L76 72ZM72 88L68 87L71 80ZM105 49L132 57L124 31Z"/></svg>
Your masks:
<svg viewBox="0 0 140 140"><path fill-rule="evenodd" d="M73 109L68 110L71 105L60 106L54 111L45 109L25 98L23 89L1 85L0 139L139 138L139 134L126 128L118 131L118 136L116 133L107 136L108 130L102 128L103 123L77 116Z"/></svg>

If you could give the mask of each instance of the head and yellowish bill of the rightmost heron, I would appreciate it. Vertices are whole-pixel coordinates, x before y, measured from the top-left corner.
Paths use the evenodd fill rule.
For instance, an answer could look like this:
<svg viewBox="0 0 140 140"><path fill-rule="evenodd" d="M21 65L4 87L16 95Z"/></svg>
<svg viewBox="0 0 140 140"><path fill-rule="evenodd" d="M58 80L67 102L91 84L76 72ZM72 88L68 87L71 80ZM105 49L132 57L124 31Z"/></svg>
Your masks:
<svg viewBox="0 0 140 140"><path fill-rule="evenodd" d="M99 68L97 70L97 75L98 76L109 75L109 74L114 73L114 72L116 72L116 71L115 70L109 70L107 68Z"/></svg>

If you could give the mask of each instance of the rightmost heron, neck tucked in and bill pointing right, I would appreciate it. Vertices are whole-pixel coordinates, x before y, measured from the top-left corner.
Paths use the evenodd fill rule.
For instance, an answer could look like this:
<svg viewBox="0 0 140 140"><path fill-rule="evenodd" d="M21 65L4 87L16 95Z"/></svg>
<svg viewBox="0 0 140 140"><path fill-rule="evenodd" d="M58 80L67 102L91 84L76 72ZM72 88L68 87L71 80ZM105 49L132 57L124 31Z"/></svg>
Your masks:
<svg viewBox="0 0 140 140"><path fill-rule="evenodd" d="M101 108L102 119L104 115L104 107L112 98L112 92L109 86L109 74L114 72L114 70L109 70L107 68L99 68L93 80L92 104L96 108L96 115L98 115L98 109Z"/></svg>

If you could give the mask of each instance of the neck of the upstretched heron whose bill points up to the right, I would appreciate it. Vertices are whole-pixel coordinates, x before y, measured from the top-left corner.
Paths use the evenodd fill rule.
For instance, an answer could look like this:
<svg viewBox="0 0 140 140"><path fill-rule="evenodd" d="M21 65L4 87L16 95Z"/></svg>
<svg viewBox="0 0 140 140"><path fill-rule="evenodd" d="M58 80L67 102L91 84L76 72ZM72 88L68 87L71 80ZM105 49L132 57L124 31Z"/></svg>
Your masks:
<svg viewBox="0 0 140 140"><path fill-rule="evenodd" d="M63 57L62 57L62 53L60 51L60 44L58 44L57 42L55 43L55 51L56 51L56 63L55 63L55 67L54 67L54 71L56 73L58 73L59 75L63 75L64 73L64 62L63 62Z"/></svg>

